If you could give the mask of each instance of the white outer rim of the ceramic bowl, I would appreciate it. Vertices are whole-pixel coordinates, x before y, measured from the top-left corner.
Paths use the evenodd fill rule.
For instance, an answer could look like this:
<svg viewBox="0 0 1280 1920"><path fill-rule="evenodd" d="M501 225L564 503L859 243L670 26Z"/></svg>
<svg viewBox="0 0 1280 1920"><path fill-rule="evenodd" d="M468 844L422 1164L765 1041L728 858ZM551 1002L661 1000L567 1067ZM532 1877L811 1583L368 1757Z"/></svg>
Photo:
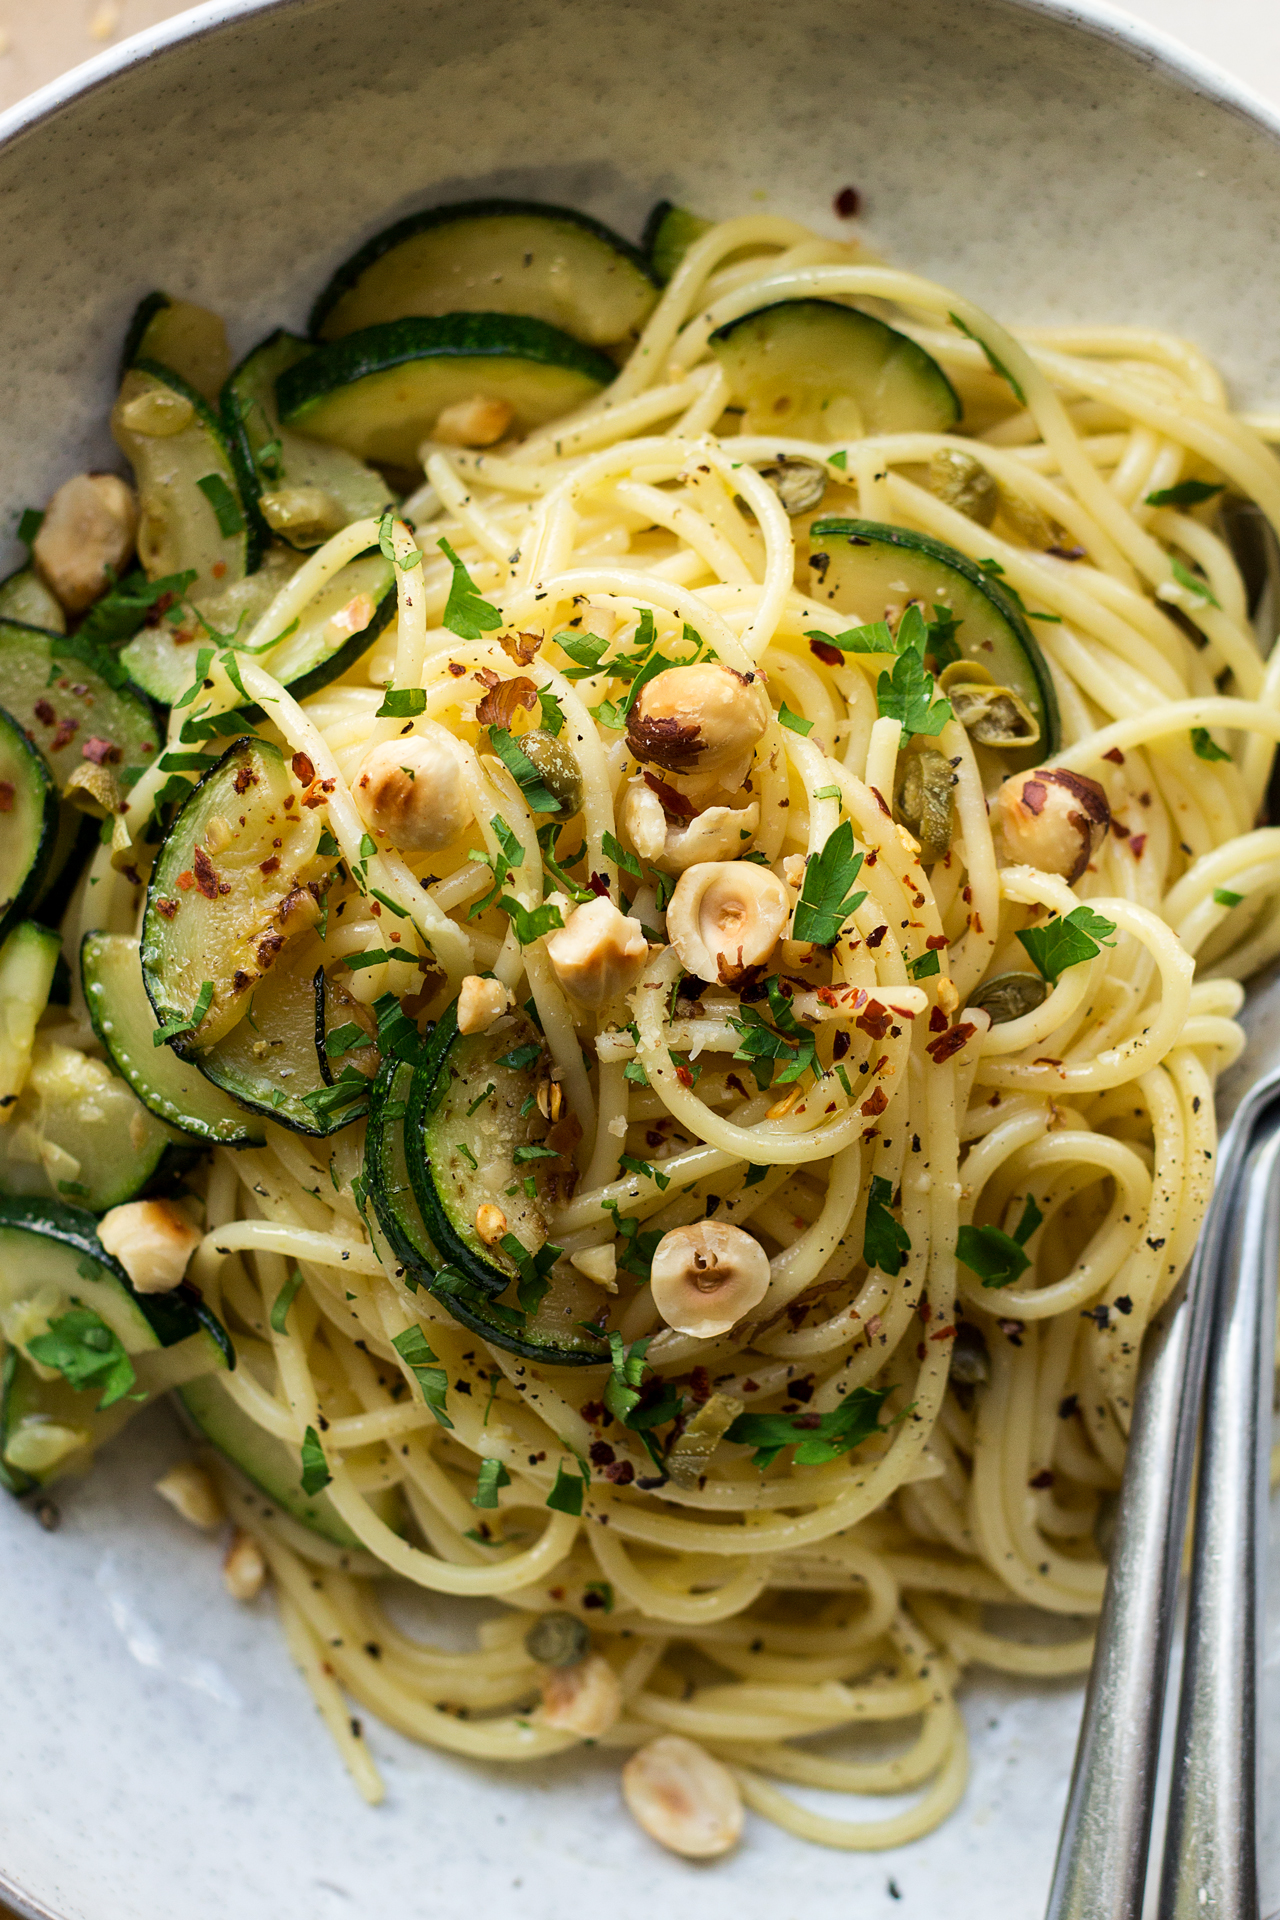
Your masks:
<svg viewBox="0 0 1280 1920"><path fill-rule="evenodd" d="M144 27L129 35L117 46L94 54L81 65L38 86L15 106L0 113L0 154L54 119L83 96L98 92L111 81L142 65L157 54L186 42L211 38L232 29L238 21L257 13L299 12L311 0L203 0L201 6L184 10L155 27ZM996 0L996 4L1021 13L1038 13L1044 19L1057 19L1077 27L1096 40L1138 54L1153 69L1180 81L1201 98L1213 100L1242 119L1261 127L1272 140L1280 142L1280 106L1272 106L1259 92L1238 81L1217 61L1186 46L1174 35L1132 13L1111 6L1109 0ZM15 1885L0 1864L0 1901L6 1901L21 1920L65 1920L52 1907L36 1901ZM1270 1920L1280 1920L1276 1910Z"/></svg>

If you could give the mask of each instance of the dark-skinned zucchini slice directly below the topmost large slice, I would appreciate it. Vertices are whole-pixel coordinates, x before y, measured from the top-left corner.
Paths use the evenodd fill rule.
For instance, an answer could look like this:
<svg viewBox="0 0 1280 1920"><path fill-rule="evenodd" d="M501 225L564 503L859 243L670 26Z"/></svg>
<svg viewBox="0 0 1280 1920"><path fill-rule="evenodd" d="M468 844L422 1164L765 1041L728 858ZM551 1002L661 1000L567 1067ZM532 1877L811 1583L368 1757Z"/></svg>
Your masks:
<svg viewBox="0 0 1280 1920"><path fill-rule="evenodd" d="M555 420L599 394L614 363L547 321L445 313L388 321L319 348L280 374L280 420L361 461L411 470L445 407L503 399L514 432Z"/></svg>

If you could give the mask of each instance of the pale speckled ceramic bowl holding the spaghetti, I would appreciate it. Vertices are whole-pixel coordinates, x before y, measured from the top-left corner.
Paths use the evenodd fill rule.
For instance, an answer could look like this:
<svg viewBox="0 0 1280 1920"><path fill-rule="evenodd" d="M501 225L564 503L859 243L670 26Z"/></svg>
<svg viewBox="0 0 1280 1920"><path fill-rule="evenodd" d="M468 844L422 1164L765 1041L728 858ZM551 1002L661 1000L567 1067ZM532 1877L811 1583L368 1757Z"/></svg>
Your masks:
<svg viewBox="0 0 1280 1920"><path fill-rule="evenodd" d="M854 184L885 252L1002 317L1173 326L1238 396L1274 401L1278 134L1092 4L219 0L0 121L4 505L111 457L115 357L148 288L219 307L248 348L299 324L367 232L476 192L570 202L624 232L660 194L835 230L833 194ZM226 1601L209 1544L150 1492L180 1450L163 1411L130 1428L56 1534L0 1505L0 1891L23 1912L1042 1910L1079 1715L1065 1686L969 1682L965 1801L889 1857L752 1822L733 1859L697 1868L622 1814L610 1759L486 1770L376 1726L388 1801L370 1812L271 1603ZM1280 1793L1263 1805L1274 1907Z"/></svg>

